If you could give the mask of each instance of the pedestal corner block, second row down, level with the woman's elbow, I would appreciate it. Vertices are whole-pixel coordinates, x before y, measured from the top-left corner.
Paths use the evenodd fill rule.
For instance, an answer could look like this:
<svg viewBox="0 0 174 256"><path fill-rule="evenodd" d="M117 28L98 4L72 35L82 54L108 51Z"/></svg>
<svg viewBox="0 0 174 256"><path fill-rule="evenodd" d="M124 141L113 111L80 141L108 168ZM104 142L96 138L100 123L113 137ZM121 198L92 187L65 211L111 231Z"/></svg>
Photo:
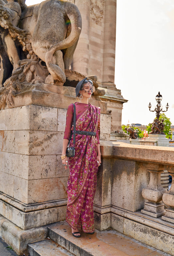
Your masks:
<svg viewBox="0 0 174 256"><path fill-rule="evenodd" d="M63 135L63 132L16 131L15 153L26 155L60 154Z"/></svg>

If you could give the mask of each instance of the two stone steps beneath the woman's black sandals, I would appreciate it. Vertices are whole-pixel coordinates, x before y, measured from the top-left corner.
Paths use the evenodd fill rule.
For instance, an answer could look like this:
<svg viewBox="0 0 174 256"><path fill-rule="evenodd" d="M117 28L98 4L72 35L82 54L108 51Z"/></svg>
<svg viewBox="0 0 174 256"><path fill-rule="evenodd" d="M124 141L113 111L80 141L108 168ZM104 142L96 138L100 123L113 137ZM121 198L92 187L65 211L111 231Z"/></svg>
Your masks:
<svg viewBox="0 0 174 256"><path fill-rule="evenodd" d="M48 237L28 245L30 256L170 256L114 230L75 238L66 221L47 225Z"/></svg>

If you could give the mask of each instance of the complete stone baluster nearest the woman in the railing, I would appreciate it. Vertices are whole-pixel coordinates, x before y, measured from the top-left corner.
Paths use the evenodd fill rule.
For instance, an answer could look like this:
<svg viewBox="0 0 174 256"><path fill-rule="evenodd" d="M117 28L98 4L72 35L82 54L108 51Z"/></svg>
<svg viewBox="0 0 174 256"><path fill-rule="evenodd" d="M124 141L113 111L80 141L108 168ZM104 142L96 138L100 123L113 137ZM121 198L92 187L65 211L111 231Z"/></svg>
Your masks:
<svg viewBox="0 0 174 256"><path fill-rule="evenodd" d="M161 202L163 194L167 192L161 185L161 173L164 169L164 165L148 164L147 170L150 172L150 182L148 187L142 190L142 196L148 202L145 203L141 213L155 218L165 215L164 204Z"/></svg>

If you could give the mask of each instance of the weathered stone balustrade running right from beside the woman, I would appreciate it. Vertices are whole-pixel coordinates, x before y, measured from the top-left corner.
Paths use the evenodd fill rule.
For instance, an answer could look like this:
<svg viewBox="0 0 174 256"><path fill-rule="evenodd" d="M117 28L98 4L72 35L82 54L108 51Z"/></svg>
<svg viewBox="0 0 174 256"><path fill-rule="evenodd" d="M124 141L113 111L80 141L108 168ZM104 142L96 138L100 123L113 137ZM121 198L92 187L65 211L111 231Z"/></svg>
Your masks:
<svg viewBox="0 0 174 256"><path fill-rule="evenodd" d="M111 227L174 255L174 179L169 191L161 185L164 170L174 177L172 148L105 141L101 152L96 228Z"/></svg>

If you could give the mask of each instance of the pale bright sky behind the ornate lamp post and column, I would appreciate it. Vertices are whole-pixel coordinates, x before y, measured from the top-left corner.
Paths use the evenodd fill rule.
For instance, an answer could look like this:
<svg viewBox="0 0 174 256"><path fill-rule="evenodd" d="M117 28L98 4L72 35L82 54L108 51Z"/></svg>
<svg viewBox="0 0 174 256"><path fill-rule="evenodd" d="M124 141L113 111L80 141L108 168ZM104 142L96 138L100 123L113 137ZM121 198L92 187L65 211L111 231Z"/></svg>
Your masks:
<svg viewBox="0 0 174 256"><path fill-rule="evenodd" d="M26 5L40 3L26 0ZM174 124L174 0L117 0L115 84L122 96L122 124L152 122L158 91Z"/></svg>

